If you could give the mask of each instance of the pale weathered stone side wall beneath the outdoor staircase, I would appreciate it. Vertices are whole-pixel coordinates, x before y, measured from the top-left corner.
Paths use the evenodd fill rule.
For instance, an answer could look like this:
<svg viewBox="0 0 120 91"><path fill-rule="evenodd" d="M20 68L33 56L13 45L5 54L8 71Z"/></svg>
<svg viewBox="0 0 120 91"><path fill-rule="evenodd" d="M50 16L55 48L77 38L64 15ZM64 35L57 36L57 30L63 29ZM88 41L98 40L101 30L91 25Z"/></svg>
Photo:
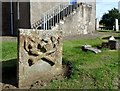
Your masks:
<svg viewBox="0 0 120 91"><path fill-rule="evenodd" d="M80 4L75 13L65 17L64 24L60 24L63 36L88 34L95 31L95 16L92 14L93 6Z"/></svg>

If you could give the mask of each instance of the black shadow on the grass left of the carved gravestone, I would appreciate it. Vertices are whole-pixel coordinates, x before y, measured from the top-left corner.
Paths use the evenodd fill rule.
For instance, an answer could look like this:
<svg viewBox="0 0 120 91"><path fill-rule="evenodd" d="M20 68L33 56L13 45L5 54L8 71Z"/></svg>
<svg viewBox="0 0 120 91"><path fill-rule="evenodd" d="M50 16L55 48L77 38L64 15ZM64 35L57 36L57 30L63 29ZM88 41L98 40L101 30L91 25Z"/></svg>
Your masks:
<svg viewBox="0 0 120 91"><path fill-rule="evenodd" d="M1 63L2 83L17 86L17 59L7 60Z"/></svg>

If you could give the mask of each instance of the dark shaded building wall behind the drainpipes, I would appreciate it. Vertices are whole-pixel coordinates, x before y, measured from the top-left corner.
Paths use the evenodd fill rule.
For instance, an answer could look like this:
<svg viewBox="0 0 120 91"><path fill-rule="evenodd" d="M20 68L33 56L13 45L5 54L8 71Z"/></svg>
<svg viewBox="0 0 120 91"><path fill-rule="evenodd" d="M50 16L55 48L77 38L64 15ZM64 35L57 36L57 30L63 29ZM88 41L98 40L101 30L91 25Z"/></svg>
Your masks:
<svg viewBox="0 0 120 91"><path fill-rule="evenodd" d="M19 19L18 19L19 12ZM12 22L11 24L11 15ZM30 28L30 3L29 2L18 2L11 3L2 2L2 35L17 35L18 28ZM13 27L13 30L11 29Z"/></svg>

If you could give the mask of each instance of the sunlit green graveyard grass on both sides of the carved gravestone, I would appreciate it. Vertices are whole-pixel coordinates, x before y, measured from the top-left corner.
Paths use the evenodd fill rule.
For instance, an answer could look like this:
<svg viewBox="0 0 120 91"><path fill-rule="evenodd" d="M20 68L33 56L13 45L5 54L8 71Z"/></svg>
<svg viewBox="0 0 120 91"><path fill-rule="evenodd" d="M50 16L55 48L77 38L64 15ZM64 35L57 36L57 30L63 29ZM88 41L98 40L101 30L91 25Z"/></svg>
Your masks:
<svg viewBox="0 0 120 91"><path fill-rule="evenodd" d="M97 46L101 38L66 40L63 47L63 61L71 64L71 75L63 80L53 80L40 89L115 89L118 86L118 51L102 49L101 53L84 52L83 44ZM0 50L1 51L1 50ZM2 43L3 61L17 58L17 43ZM15 66L14 63L5 65Z"/></svg>

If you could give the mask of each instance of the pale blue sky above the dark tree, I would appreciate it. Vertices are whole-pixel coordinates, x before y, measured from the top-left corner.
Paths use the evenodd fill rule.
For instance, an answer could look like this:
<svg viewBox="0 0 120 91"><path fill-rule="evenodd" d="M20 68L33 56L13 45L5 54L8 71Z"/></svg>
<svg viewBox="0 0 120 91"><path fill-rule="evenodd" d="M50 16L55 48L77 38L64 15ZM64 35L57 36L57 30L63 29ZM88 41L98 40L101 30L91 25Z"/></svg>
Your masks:
<svg viewBox="0 0 120 91"><path fill-rule="evenodd" d="M99 20L104 13L107 13L108 10L113 8L118 9L118 2L120 0L96 0L96 18Z"/></svg>

